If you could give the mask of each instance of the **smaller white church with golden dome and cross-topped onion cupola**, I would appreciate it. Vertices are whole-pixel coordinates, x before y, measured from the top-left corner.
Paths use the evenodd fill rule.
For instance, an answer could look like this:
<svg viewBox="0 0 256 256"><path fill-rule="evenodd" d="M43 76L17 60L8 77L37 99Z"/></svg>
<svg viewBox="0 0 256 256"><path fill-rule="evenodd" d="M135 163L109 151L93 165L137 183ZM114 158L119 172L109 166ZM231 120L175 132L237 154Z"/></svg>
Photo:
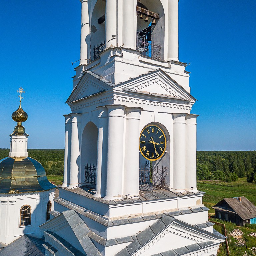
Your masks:
<svg viewBox="0 0 256 256"><path fill-rule="evenodd" d="M24 90L18 92L20 106L12 114L17 125L10 135L10 153L0 160L0 255L41 256L35 244L43 248L39 226L50 220L56 186L48 181L43 166L28 156L29 135L22 125L28 115L21 107Z"/></svg>

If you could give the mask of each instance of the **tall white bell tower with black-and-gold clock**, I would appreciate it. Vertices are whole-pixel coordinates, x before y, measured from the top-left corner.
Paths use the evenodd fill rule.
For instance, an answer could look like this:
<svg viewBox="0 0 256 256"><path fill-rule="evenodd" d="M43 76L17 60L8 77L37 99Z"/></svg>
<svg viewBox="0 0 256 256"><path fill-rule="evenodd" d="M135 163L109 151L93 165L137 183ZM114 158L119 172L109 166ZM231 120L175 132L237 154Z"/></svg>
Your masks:
<svg viewBox="0 0 256 256"><path fill-rule="evenodd" d="M196 99L178 56L178 0L81 0L64 181L46 255L216 255L196 187Z"/></svg>

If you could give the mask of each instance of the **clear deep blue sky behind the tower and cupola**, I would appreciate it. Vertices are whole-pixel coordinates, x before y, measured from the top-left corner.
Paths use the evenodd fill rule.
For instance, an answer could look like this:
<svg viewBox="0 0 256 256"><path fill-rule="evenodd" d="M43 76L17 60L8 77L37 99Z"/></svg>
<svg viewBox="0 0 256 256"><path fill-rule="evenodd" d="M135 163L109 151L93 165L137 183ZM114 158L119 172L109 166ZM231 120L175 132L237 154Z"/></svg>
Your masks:
<svg viewBox="0 0 256 256"><path fill-rule="evenodd" d="M191 63L198 150L256 150L255 12L255 0L179 1L179 59ZM20 86L29 148L64 148L80 13L79 0L0 1L0 148L9 147Z"/></svg>

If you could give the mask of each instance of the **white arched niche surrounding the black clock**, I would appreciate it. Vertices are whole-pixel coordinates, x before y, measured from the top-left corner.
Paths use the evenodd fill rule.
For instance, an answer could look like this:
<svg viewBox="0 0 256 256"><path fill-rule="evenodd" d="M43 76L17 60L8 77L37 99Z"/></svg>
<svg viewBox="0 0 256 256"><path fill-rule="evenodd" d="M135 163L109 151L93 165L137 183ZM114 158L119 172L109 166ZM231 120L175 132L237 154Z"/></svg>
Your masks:
<svg viewBox="0 0 256 256"><path fill-rule="evenodd" d="M167 186L169 185L168 183L168 175L170 174L170 145L171 145L171 140L170 140L170 134L168 132L168 130L166 129L165 126L163 126L161 123L158 122L152 122L152 123L148 123L147 125L145 125L144 127L148 126L148 125L156 125L158 126L165 134L166 137L166 148L165 148L165 153L163 154L163 156L161 158L159 158L156 161L152 161L152 165L153 168L158 166L158 167L162 167L165 166L166 169L166 177L165 177L165 183L167 184ZM144 129L143 127L143 129ZM142 129L142 130L143 130ZM140 168L144 168L146 162L149 162L149 160L147 160L146 158L143 157L143 155L140 153Z"/></svg>

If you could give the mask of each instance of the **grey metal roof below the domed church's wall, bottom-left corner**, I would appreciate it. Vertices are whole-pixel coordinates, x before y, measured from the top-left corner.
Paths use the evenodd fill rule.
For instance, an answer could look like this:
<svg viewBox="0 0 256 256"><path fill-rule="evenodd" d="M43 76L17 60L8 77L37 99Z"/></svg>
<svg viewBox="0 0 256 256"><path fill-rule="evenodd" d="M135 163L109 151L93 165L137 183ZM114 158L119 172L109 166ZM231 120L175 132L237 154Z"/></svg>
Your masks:
<svg viewBox="0 0 256 256"><path fill-rule="evenodd" d="M43 243L42 239L23 235L0 250L0 256L44 256Z"/></svg>

